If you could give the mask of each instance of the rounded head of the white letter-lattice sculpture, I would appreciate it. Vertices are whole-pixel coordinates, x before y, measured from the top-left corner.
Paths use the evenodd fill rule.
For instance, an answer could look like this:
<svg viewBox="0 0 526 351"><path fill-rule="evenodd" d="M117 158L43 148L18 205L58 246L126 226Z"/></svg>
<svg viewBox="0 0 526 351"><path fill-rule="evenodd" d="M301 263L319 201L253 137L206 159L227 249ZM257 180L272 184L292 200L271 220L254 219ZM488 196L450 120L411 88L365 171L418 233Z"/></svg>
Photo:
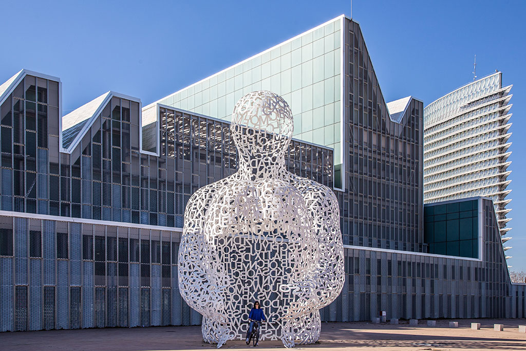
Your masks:
<svg viewBox="0 0 526 351"><path fill-rule="evenodd" d="M239 99L230 131L239 154L251 158L282 157L294 131L287 102L269 91L249 93Z"/></svg>

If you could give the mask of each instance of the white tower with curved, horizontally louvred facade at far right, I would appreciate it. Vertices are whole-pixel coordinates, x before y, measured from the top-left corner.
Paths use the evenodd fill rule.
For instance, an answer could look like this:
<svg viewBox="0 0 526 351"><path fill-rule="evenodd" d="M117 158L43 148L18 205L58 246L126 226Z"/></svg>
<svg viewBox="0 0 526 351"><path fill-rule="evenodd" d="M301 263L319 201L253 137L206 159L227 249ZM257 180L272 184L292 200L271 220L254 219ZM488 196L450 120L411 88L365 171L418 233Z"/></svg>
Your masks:
<svg viewBox="0 0 526 351"><path fill-rule="evenodd" d="M487 196L502 243L511 229L508 139L511 85L495 72L444 95L424 109L424 202ZM504 250L509 249L504 247Z"/></svg>

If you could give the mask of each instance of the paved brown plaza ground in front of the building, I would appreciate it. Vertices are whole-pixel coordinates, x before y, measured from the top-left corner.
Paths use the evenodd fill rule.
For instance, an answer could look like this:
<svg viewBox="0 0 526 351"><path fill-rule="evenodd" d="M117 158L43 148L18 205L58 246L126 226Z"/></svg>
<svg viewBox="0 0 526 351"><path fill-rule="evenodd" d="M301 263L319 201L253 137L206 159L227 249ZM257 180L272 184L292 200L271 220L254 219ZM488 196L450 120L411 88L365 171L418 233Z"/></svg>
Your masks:
<svg viewBox="0 0 526 351"><path fill-rule="evenodd" d="M518 325L526 319L459 319L458 328L449 328L449 320L437 320L436 327L420 321L416 327L408 321L399 325L365 322L322 323L319 343L298 345L301 350L526 350L526 333ZM481 324L471 330L471 322ZM493 330L493 324L503 324L504 331ZM222 349L252 348L241 341L227 342ZM260 350L284 349L279 341L262 341ZM215 349L205 344L199 326L106 328L48 330L38 332L1 333L0 350L100 350L154 351ZM253 348L252 348L253 349Z"/></svg>

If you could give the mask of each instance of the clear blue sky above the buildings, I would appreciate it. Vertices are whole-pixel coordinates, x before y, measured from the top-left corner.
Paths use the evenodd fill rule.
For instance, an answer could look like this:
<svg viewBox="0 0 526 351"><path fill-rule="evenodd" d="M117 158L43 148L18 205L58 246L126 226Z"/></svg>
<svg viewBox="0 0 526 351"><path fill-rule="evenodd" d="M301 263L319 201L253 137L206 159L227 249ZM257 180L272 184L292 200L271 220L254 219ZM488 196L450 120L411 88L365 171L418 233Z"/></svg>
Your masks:
<svg viewBox="0 0 526 351"><path fill-rule="evenodd" d="M148 104L270 46L350 16L350 1L2 1L0 81L31 69L60 77L69 112L113 90ZM477 74L513 84L509 264L526 269L526 29L523 1L355 0L387 101L429 104ZM507 243L507 244L508 244Z"/></svg>

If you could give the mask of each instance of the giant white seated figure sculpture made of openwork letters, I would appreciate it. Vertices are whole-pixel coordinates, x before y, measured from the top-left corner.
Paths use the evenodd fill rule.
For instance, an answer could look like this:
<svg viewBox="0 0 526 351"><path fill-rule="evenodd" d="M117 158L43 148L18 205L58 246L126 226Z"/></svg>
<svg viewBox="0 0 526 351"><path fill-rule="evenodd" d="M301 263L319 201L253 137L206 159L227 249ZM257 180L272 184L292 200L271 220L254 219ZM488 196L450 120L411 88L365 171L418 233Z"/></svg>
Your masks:
<svg viewBox="0 0 526 351"><path fill-rule="evenodd" d="M269 320L262 339L287 347L320 334L319 309L344 282L335 194L285 168L294 120L268 92L242 97L230 130L239 171L200 188L185 210L179 289L203 315L203 338L218 347L244 339L254 300Z"/></svg>

